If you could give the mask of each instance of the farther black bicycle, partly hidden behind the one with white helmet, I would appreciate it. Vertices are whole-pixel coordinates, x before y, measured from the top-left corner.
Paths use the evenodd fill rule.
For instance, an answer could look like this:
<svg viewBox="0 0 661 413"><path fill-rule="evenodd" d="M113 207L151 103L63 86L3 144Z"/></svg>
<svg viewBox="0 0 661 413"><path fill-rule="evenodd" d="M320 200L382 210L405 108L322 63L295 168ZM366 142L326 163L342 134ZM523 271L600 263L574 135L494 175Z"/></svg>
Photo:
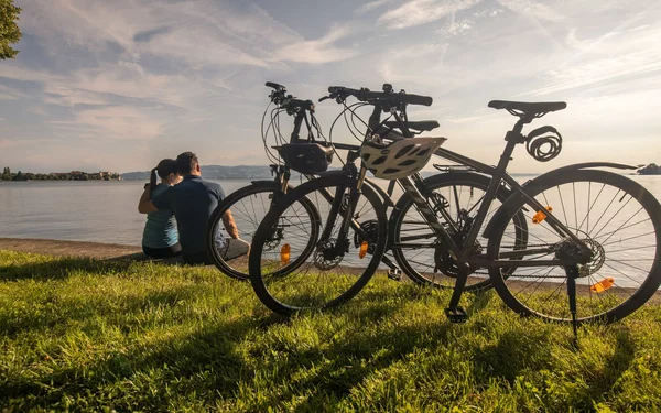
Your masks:
<svg viewBox="0 0 661 413"><path fill-rule="evenodd" d="M324 142L325 148L332 148L336 150L351 152L359 150L357 144L346 144L336 142L326 142L323 138L321 128L315 118L315 110L312 101L300 100L293 98L291 95L286 95L286 90L283 86L267 83L268 87L273 88L273 91L269 96L271 104L275 105L275 108L271 111L270 116L267 117L269 107L264 111L262 117L262 141L264 142L264 149L267 155L272 161L271 172L274 175L272 181L253 181L251 185L238 189L226 197L216 208L209 224L207 226L207 248L209 256L213 258L216 267L229 276L248 280L248 264L245 258L238 258L228 260L226 259L216 248L217 240L226 238L227 235L224 232L223 217L227 210L231 210L235 219L238 221L239 233L241 238L251 241L257 227L261 221L263 215L271 208L275 202L284 195L284 193L292 188L291 182L291 170L299 169L303 171L305 167L296 165L296 157L290 160L289 163L283 162L280 156L280 152L273 152L267 144L267 135L272 133L273 141L277 142L274 149L281 151L283 146L288 149L299 149L300 145L295 143L300 142ZM392 90L391 85L384 85L384 90ZM345 101L343 100L343 104ZM339 119L344 119L346 126L349 128L351 133L356 134L356 120L355 112L361 106L368 104L358 102L351 106L346 106L345 110L335 119L333 126ZM372 116L370 117L370 124L372 130L382 137L388 139L399 140L404 138L412 138L424 131L432 131L438 127L437 121L409 121L407 115L407 106L400 105L395 108L394 116L384 122L380 121L382 108L375 106ZM289 141L285 140L280 132L280 118L279 115L286 113L294 117L293 131L290 135ZM347 117L347 113L350 113ZM264 129L264 124L268 127ZM306 126L306 138L301 139L302 126ZM330 129L333 131L333 127ZM359 132L358 132L359 133ZM332 134L330 134L332 137ZM294 143L294 145L291 145ZM315 148L316 149L316 148ZM329 150L329 149L328 149ZM322 157L325 154L322 153ZM304 159L313 159L314 154L304 153ZM339 157L339 156L338 156ZM322 163L324 161L322 160ZM293 163L293 164L292 164ZM299 167L297 167L299 166ZM303 165L304 166L304 165ZM433 205L433 208L440 214L440 219L445 225L455 228L455 232L458 231L458 226L462 225L464 219L460 211L475 209L480 200L484 198L489 180L485 175L468 173L463 167L456 166L442 166L436 165L443 173L423 178L419 173L411 175L411 180L414 182L421 194ZM312 180L318 177L319 174L325 174L325 167L310 171L305 169L302 178ZM336 171L337 172L337 171ZM333 172L330 172L333 173ZM381 258L382 264L388 269L390 278L400 280L401 273L403 272L409 279L423 285L434 285L440 287L454 287L456 280L456 265L448 258L446 251L440 248L429 248L430 243L426 242L430 239L435 238L434 233L429 230L429 226L416 214L413 199L404 194L399 200L392 199L393 192L395 189L395 181L391 181L388 184L387 189L381 188L377 183L370 180L365 180L366 184L371 189L378 193L378 195L384 200L387 207L392 207L392 213L389 218L389 240L387 244L387 253ZM498 189L496 200L491 205L491 211L496 210L496 207L502 203L511 192L506 187L501 186ZM329 193L323 193L324 198L329 203L333 195ZM445 208L444 205L452 203L453 208ZM305 204L308 205L310 203ZM306 210L312 210L307 207ZM307 213L306 213L307 214ZM312 213L310 213L312 214ZM519 222L521 228L525 228L527 224L520 217ZM360 239L373 239L375 221L362 220L360 224L364 228L359 229L359 236L355 237L356 240ZM463 226L464 230L466 226ZM316 229L315 229L316 231ZM268 246L271 248L272 253L279 253L277 248L282 243L283 227L272 229L269 236ZM311 236L315 236L316 232L311 231ZM457 237L460 235L457 233ZM519 231L518 237L521 242L524 242L524 231ZM426 242L426 243L425 243ZM486 240L483 240L483 243ZM310 252L310 250L306 250ZM388 253L388 252L391 252ZM490 281L486 272L476 271L472 274L467 281L467 291L481 291L490 287Z"/></svg>

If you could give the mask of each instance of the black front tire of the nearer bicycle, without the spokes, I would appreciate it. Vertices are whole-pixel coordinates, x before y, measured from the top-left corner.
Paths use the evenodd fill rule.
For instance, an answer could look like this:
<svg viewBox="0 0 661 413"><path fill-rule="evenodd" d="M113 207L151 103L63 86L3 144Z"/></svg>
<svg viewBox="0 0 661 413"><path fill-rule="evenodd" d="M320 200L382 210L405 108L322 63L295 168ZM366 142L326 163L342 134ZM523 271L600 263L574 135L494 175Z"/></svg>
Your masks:
<svg viewBox="0 0 661 413"><path fill-rule="evenodd" d="M302 185L288 193L283 198L281 198L261 221L254 235L252 250L250 252L249 273L250 282L257 296L271 311L286 316L301 311L325 309L336 307L345 303L346 301L353 298L356 294L358 294L375 274L386 249L388 218L381 198L377 195L377 193L373 189L371 189L367 185L365 185L361 189L361 197L364 196L366 200L371 205L371 210L376 215L376 228L378 230L377 242L375 242L373 252L371 253L371 256L369 256L369 263L365 267L365 270L361 272L361 274L359 274L356 281L350 285L350 287L346 289L346 291L344 291L339 295L333 297L328 302L325 302L321 305L297 306L282 302L280 297L277 297L272 294L269 286L267 285L267 281L270 282L272 280L283 280L288 275L292 275L293 271L290 270L288 273L279 272L278 274L263 273L266 271L262 271L262 251L264 241L267 239L267 235L269 233L271 228L273 228L278 224L280 216L284 214L293 203L297 202L303 197L307 197L315 191L339 186L350 187L351 185L356 185L356 181L346 175L324 176L315 178L314 181L303 183ZM324 222L325 221L323 220L321 221L321 224ZM321 243L322 242L319 242L319 244ZM319 246L315 246L315 248L318 249Z"/></svg>

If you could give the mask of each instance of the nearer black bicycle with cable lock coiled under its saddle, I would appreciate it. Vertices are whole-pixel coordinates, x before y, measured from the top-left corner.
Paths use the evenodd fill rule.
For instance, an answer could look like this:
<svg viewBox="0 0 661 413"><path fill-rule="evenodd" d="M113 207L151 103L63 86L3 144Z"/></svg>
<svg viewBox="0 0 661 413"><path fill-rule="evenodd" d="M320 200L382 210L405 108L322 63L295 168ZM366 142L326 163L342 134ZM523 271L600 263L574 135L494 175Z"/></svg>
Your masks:
<svg viewBox="0 0 661 413"><path fill-rule="evenodd" d="M329 96L339 102L354 96L383 109L401 104L416 104L423 98L345 87L330 87L328 90ZM659 202L636 182L619 174L596 170L632 169L616 163L590 162L564 166L520 185L506 172L518 144L527 144L529 153L538 161L556 156L562 148L562 137L554 128L538 128L524 135L523 127L549 112L564 109L566 104L494 100L489 102L489 107L505 109L519 118L506 134L506 148L497 166L488 166L444 149L436 151L448 160L490 175L479 207L465 214L465 236L457 237L455 230L440 221L437 211L411 178L404 176L397 180L433 231L437 249L447 251L456 269L454 291L445 309L447 317L452 322L466 320L467 314L459 301L469 274L476 269L487 269L496 292L511 309L521 315L571 323L575 334L581 323L611 323L638 309L661 284ZM542 137L548 133L552 135ZM414 143L415 139L411 142ZM361 151L355 154L355 160L365 155L367 148L382 151L386 162L395 155L389 153L391 144L381 143L368 130ZM355 296L377 270L387 244L387 218L378 194L362 186L362 183L368 170L378 175L379 169L373 164L373 159L366 160L365 156L361 157L360 167L350 165L353 166L343 170L342 175L300 185L281 198L260 224L253 239L249 272L253 290L270 309L289 315L303 309L339 305ZM512 194L487 222L484 236L488 243L484 248L475 241L487 219L491 202L503 184L511 188ZM578 193L576 186L579 187ZM319 232L322 238L316 242L312 257L321 256L325 259L323 262L329 264L324 268L314 260L306 260L301 265L301 271L277 273L274 270L286 260L283 257L280 261L262 257L264 235L277 225L280 216L293 202L305 197L312 199L316 192L328 188L334 188L336 196L328 211L323 214L325 219L322 217L318 222L323 225ZM360 220L360 214L355 213L360 213L357 200L361 198L367 199L376 211L377 225L371 242L362 242L359 247L359 257L366 257L365 250L371 250L369 261L360 268L351 268L353 273L349 273L349 265L343 265L343 260L351 263L349 259L356 251L347 248L347 244L351 247L355 243L348 242L348 222ZM603 199L602 203L598 203L599 198ZM581 218L578 211L582 214ZM590 219L593 211L595 215ZM517 217L520 216L524 216L529 222L524 229L525 239L517 236L518 231L523 230L517 225ZM334 231L336 227L338 229ZM288 232L295 233L295 227L291 227ZM507 239L513 242L503 242ZM529 240L534 241L529 243ZM633 250L640 257L632 257ZM291 256L286 259L291 259ZM629 262L635 262L636 265ZM311 267L316 268L316 273L311 273ZM321 276L322 270L325 276ZM624 271L636 273L630 276ZM347 281L349 278L351 280ZM290 279L295 281L294 287L283 285ZM318 285L313 284L314 281L328 283ZM559 301L563 289L566 290L566 298Z"/></svg>

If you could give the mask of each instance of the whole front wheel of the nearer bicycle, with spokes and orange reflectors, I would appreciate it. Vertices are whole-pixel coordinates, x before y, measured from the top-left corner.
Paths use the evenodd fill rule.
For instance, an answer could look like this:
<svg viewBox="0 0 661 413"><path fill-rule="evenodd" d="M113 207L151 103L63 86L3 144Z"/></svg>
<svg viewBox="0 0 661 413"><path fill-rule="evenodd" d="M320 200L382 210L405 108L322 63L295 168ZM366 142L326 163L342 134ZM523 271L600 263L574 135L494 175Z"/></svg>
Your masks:
<svg viewBox="0 0 661 413"><path fill-rule="evenodd" d="M372 276L386 248L386 210L367 186L349 202L347 194L355 186L356 181L345 175L304 183L264 217L254 235L249 272L257 296L271 311L289 315L337 306L358 294ZM319 219L301 214L296 207L301 199L316 207ZM350 205L355 207L346 221L348 228L342 230ZM301 240L313 230L319 237L307 253ZM268 249L274 231L281 235L278 248ZM291 261L300 264L292 268Z"/></svg>

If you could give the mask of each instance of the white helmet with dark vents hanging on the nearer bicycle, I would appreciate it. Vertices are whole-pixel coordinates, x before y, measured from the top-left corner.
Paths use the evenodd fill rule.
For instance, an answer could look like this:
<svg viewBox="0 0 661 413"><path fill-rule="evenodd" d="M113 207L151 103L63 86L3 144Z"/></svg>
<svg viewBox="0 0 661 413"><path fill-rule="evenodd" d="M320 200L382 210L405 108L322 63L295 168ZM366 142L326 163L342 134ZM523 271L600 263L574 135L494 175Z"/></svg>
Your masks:
<svg viewBox="0 0 661 413"><path fill-rule="evenodd" d="M367 141L360 148L365 166L382 180L410 176L427 164L447 138L412 138L390 143Z"/></svg>

